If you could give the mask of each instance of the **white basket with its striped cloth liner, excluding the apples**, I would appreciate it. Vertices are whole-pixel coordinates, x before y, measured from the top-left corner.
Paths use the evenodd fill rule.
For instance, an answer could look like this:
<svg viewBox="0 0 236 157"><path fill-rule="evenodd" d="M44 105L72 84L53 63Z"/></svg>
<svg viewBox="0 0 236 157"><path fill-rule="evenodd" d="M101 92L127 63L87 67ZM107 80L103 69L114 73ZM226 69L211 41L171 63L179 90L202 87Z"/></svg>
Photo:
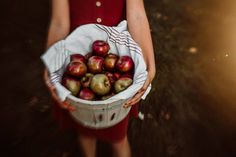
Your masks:
<svg viewBox="0 0 236 157"><path fill-rule="evenodd" d="M126 90L102 101L76 98L60 84L62 74L69 62L66 58L75 53L86 55L91 52L91 45L95 40L107 41L110 45L109 52L119 56L129 55L135 64L133 84ZM147 77L146 64L141 49L127 31L126 21L121 22L117 27L97 24L80 26L65 40L50 47L41 58L51 74L51 80L58 96L63 101L67 99L76 108L76 111L71 112L72 117L90 128L111 127L124 119L130 108L124 108L123 104L136 94ZM150 89L151 86L145 92L143 99Z"/></svg>

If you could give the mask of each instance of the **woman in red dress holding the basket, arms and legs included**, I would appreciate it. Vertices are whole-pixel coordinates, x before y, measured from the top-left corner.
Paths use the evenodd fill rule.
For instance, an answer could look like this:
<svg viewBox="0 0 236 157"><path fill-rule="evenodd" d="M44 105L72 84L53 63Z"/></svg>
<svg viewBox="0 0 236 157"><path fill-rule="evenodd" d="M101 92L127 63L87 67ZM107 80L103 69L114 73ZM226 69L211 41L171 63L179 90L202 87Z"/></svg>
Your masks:
<svg viewBox="0 0 236 157"><path fill-rule="evenodd" d="M143 0L87 0L86 2L82 0L52 0L52 17L48 32L47 47L65 38L73 29L82 24L99 23L107 26L116 26L124 19L128 22L128 30L131 36L142 48L148 71L148 77L143 87L129 102L124 104L124 107L127 108L140 101L155 76L153 45ZM45 70L44 79L57 104L66 110L73 110L70 104L61 102L57 97L54 87L48 81L47 70ZM131 156L127 139L128 117L129 116L114 127L99 130L103 135L110 134L112 130L123 130L122 135L115 135L115 141L108 139L117 157ZM89 130L80 124L76 125L78 125L77 128L80 135L78 140L84 151L84 155L86 157L95 157L96 140L97 138L100 139L100 134L96 134L98 132L97 130ZM90 134L88 136L86 135L87 132L92 132L96 135L93 136ZM119 136L119 138L117 138L117 136Z"/></svg>

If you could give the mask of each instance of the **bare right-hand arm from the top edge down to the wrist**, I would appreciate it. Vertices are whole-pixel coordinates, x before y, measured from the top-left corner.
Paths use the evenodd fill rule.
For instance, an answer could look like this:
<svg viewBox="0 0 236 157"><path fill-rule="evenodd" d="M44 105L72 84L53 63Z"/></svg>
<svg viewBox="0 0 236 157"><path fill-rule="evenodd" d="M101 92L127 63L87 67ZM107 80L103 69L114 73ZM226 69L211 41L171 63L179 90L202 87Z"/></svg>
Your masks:
<svg viewBox="0 0 236 157"><path fill-rule="evenodd" d="M137 4L137 6L135 6L136 4L133 4L132 0L128 0L127 2L128 29L133 39L139 44L142 49L144 60L147 64L147 71L155 75L155 56L149 23L142 0L137 1L137 3L142 4Z"/></svg>

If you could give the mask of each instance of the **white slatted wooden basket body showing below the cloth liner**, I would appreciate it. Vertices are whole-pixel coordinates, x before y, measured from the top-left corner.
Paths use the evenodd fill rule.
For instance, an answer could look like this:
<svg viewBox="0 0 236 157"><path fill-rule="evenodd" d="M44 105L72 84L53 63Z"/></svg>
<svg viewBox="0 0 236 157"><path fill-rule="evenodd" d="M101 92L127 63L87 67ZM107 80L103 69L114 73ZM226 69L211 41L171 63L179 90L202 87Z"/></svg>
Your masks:
<svg viewBox="0 0 236 157"><path fill-rule="evenodd" d="M82 103L81 100L78 101L72 95L69 95L67 99L77 109L70 112L72 117L90 128L113 126L123 120L130 111L130 108L122 107L126 100L110 101L106 104L103 101L97 101L96 105L88 105L88 102Z"/></svg>

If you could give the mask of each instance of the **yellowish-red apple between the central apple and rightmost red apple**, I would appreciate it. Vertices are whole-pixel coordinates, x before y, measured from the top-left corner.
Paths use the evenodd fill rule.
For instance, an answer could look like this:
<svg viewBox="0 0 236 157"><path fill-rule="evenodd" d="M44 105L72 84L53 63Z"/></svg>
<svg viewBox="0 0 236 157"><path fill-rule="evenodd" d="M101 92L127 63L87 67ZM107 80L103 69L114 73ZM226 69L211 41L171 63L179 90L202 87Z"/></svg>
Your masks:
<svg viewBox="0 0 236 157"><path fill-rule="evenodd" d="M108 71L113 71L115 69L116 61L118 60L118 56L113 53L109 53L106 55L104 59L104 68Z"/></svg>

